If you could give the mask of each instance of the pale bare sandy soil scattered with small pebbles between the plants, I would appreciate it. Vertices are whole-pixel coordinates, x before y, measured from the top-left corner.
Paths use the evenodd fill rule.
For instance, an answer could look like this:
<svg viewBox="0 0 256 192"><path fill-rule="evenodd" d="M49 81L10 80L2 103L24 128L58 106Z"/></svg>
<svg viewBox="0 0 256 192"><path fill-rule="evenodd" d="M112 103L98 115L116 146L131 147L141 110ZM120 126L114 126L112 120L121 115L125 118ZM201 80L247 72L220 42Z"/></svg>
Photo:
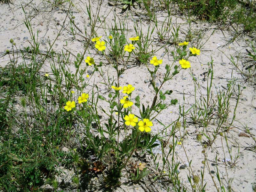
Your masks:
<svg viewBox="0 0 256 192"><path fill-rule="evenodd" d="M11 46L9 43L11 38L14 39L19 49L23 49L24 47L29 46L31 42L31 36L24 24L26 16L26 18L31 21L31 27L33 29L33 32L35 34L38 32L37 39L41 42L40 50L46 51L47 49L49 49L49 43L53 43L57 34L61 30L60 36L57 38L57 41L52 47L53 50L59 52L61 50L65 51L64 49L66 49L74 53L74 55L76 55L78 52L83 52L85 42L84 37L88 37L84 33L84 31L86 31L87 34L90 34L91 32L90 20L88 19L88 14L86 12L86 3L88 2L73 2L75 8L73 8L72 16L75 16L76 27L81 29L81 31L83 32L81 33L76 28L75 36L70 33L68 23L69 18L66 18L65 13L65 10L68 10L66 4L63 4L63 6L54 7L53 4L50 4L49 2L43 0L19 0L15 1L14 4L1 5L0 51L4 52L6 49L11 50ZM25 13L23 12L21 5L23 6ZM92 10L94 10L95 13L98 6L98 1L93 1L91 5ZM116 18L119 18L120 20L126 19L128 26L127 37L132 37L136 35L133 29L133 25L136 20L140 21L140 19L141 25L143 26L144 34L146 34L149 24L148 21L145 20L145 14L142 14L144 13L144 11L138 8L136 10L132 9L132 12L127 11L121 13L120 7L121 6L111 6L111 4L108 4L107 1L104 1L102 3L100 20L105 20L105 23L103 22L103 24L101 24L100 22L97 22L97 34L99 36L103 36L102 39L107 39L104 30L108 31L108 27L111 27L111 24L113 24L114 16L116 16ZM137 13L136 16L134 13ZM159 22L163 22L167 16L164 11L158 11L156 15L158 16ZM179 38L180 42L183 42L185 40L185 35L187 34L188 30L187 21L183 20L179 15L176 15L172 16L172 22L174 27L180 25ZM62 25L64 25L63 28ZM151 24L151 27L152 26L153 24ZM208 71L207 62L211 61L211 57L214 61L214 79L211 93L212 100L215 100L217 98L217 93L219 93L220 91L226 91L227 84L230 80L234 80L236 81L236 84L240 84L241 95L236 110L236 119L234 124L232 125L232 129L228 133L226 133L228 137L229 149L232 148L233 158L237 155L239 155L239 158L233 167L231 167L230 164L228 164L227 162L223 162L223 159L225 159L224 152L226 159L230 159L230 156L228 156L228 147L225 143L225 139L222 138L221 140L221 137L219 136L214 141L212 147L206 149L207 159L209 162L211 162L211 164L209 164L210 170L205 169L204 182L207 182L205 191L216 191L211 177L213 177L215 182L217 182L215 164L218 164L219 172L224 185L227 184L228 178L232 180L232 191L250 192L252 191L251 183L255 181L254 175L256 168L256 156L255 151L248 150L248 148L251 145L254 145L254 141L251 137L240 137L239 133L245 132L245 126L247 126L253 135L256 134L256 124L254 120L256 117L255 81L245 82L244 76L238 70L236 70L235 66L232 65L228 57L230 57L230 55L235 57L238 54L240 54L242 57L246 56L245 49L250 49L248 45L249 42L253 39L250 36L247 36L247 34L243 34L241 36L238 36L234 42L231 42L230 39L233 38L235 32L233 29L221 29L215 25L198 21L196 23L192 22L192 29L193 31L198 31L198 35L200 36L196 36L196 38L200 39L200 44L204 44L204 46L200 49L201 54L200 56L190 58L191 71L189 69L181 70L180 73L176 75L173 80L165 84L163 90L173 90L172 95L167 96L167 100L177 98L179 100L178 103L181 106L183 105L184 92L184 106L185 109L189 109L195 103L194 83L190 74L194 74L197 79L196 83L200 84L201 94L199 91L196 93L198 98L200 98L200 96L202 95L206 96L205 88L207 87L207 81L205 81L204 79L204 72ZM157 38L156 31L152 35L152 39L153 38ZM195 40L194 42L190 42L190 46L196 46L196 42L198 41ZM161 45L162 44L159 43L157 40L153 42L154 49L159 48ZM168 52L166 52L166 50L168 50ZM172 62L173 58L170 54L172 50L174 50L173 45L166 45L165 49L162 48L156 53L157 57L161 57L163 59L163 65L160 66L156 79L161 80L161 78L163 77L165 71L164 64ZM93 56L94 54L96 54L96 50L93 49L93 47L90 47L89 51ZM94 59L96 62L101 61L101 58L97 55L94 57ZM74 60L73 56L71 60ZM0 58L0 65L4 67L8 64L9 61L10 60L8 55L5 55ZM103 62L105 61L103 60ZM245 60L243 59L238 61L238 66L242 70L245 70L245 67L243 67L244 63ZM176 64L178 65L178 61ZM85 66L85 63L82 64L82 67L83 66ZM73 63L71 63L67 67L71 71L74 71L75 69ZM126 70L125 74L121 78L121 86L124 86L126 84L132 84L135 87L135 91L134 93L132 93L134 98L136 95L139 95L140 98L143 98L143 101L145 100L145 104L147 104L147 101L149 104L151 104L154 97L154 92L152 86L148 87L149 83L145 83L145 80L149 80L150 78L147 68L144 65L135 66L132 62L129 64L129 67L130 68ZM103 69L106 79L107 75L109 75L110 77L114 76L114 78L116 78L115 71L113 68L111 68L111 66L104 66ZM51 69L49 63L46 62L45 65L43 65L40 73L44 75L44 73L48 73L50 70ZM90 79L91 83L93 83L93 81L95 81L95 83L103 81L102 78L100 78L99 74L96 73L94 74L94 76ZM102 93L106 92L107 87L105 85L98 85ZM91 87L88 87L88 90L86 91L90 92ZM234 92L232 93L230 101L230 118L232 118L233 110L236 105L237 93L238 89L236 86ZM134 113L136 113L136 109L133 108L133 110ZM167 125L170 124L172 121L176 120L178 117L179 105L172 105L164 110L164 112L162 112L157 119L163 124ZM191 167L193 168L194 173L200 175L200 171L202 170L203 166L201 162L204 159L204 154L202 153L203 148L196 141L196 134L202 131L203 128L198 124L189 123L189 121L191 121L189 119L189 115L186 116L186 119L188 123L185 130L186 134L184 136L183 145L178 145L178 147L176 147L175 152L177 156L175 158L177 162L180 161L180 165L186 165L189 161L191 161ZM163 129L163 126L157 121L154 121L153 123L154 126L152 127L152 134L158 133L161 129ZM216 125L211 124L207 127L207 129L212 130L215 126ZM184 132L182 130L182 134L183 133ZM177 134L177 136L179 139L180 135ZM203 140L206 140L204 136ZM223 148L221 142L223 142ZM188 159L185 156L184 149L187 152ZM217 159L217 162L215 159ZM167 169L165 170L166 172L168 172ZM179 169L179 171L179 176L183 181L184 185L189 186L187 178L188 168ZM210 171L212 171L211 174L209 174ZM127 180L122 179L121 181L124 183ZM141 185L133 185L131 187L123 184L122 188L124 189L124 191L144 191ZM101 190L104 191L104 189ZM117 191L119 190L121 191L121 189L117 189ZM164 189L160 188L157 190L164 191Z"/></svg>

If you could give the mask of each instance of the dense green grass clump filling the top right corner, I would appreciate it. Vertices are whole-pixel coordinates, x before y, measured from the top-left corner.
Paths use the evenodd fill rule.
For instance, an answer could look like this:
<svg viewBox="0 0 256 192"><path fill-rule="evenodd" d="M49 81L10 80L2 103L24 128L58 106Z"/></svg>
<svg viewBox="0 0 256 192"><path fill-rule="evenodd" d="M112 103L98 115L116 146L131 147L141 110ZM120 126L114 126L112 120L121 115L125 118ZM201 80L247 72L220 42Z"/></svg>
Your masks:
<svg viewBox="0 0 256 192"><path fill-rule="evenodd" d="M255 4L248 1L239 0L175 0L179 10L183 14L196 16L199 20L222 22L227 25L231 23L242 24L243 30L247 32L255 31Z"/></svg>

